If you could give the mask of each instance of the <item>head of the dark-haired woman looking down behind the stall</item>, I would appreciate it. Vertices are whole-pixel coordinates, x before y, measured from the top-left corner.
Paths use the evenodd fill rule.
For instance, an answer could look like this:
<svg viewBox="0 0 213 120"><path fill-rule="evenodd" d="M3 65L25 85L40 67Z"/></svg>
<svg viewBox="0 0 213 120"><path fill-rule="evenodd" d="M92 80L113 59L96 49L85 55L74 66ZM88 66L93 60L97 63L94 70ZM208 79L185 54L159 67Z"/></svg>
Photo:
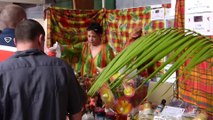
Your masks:
<svg viewBox="0 0 213 120"><path fill-rule="evenodd" d="M88 42L93 46L98 46L101 44L101 36L103 33L103 28L99 23L91 23L87 28L87 39Z"/></svg>

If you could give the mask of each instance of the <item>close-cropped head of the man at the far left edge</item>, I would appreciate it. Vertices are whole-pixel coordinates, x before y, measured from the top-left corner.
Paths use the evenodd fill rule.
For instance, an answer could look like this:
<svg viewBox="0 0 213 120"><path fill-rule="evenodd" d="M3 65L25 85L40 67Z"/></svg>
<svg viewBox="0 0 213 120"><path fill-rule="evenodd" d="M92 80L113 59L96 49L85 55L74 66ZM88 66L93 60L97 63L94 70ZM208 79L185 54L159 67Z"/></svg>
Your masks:
<svg viewBox="0 0 213 120"><path fill-rule="evenodd" d="M27 18L24 8L15 4L6 5L0 14L0 20L7 28L15 28L16 25Z"/></svg>

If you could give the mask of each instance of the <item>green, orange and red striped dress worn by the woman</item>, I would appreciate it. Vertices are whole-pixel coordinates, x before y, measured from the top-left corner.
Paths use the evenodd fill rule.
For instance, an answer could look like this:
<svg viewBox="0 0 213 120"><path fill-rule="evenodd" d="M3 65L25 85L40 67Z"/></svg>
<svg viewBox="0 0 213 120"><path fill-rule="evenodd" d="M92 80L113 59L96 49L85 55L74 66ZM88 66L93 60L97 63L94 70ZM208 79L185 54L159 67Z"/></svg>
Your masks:
<svg viewBox="0 0 213 120"><path fill-rule="evenodd" d="M99 72L97 67L104 68L114 58L114 52L108 44L102 44L100 52L93 57L88 43L82 44L82 52L79 56L78 64L75 70L82 76L92 77Z"/></svg>

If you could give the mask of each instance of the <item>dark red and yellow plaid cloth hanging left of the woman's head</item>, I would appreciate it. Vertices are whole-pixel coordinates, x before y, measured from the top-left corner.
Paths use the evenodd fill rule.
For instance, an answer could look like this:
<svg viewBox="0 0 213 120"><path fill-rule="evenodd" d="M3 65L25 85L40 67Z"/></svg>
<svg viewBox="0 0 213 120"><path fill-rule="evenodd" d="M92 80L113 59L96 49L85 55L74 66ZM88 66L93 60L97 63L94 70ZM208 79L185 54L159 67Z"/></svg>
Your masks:
<svg viewBox="0 0 213 120"><path fill-rule="evenodd" d="M74 45L86 41L86 28L92 21L101 22L104 10L46 9L47 46L56 41L62 45Z"/></svg>

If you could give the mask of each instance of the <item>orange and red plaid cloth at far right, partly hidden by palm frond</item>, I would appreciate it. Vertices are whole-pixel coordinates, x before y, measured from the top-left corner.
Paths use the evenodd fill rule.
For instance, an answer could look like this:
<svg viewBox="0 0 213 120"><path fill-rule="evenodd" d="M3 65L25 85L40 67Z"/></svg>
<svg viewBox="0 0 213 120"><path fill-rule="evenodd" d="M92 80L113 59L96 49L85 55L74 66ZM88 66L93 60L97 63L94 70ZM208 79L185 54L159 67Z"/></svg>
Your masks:
<svg viewBox="0 0 213 120"><path fill-rule="evenodd" d="M185 0L177 0L175 27L184 28ZM213 38L213 36L209 36ZM189 75L184 73L178 82L178 96L186 102L205 109L213 116L213 58L196 66ZM186 63L187 64L187 63ZM184 67L184 66L183 66ZM179 73L181 73L180 69Z"/></svg>

